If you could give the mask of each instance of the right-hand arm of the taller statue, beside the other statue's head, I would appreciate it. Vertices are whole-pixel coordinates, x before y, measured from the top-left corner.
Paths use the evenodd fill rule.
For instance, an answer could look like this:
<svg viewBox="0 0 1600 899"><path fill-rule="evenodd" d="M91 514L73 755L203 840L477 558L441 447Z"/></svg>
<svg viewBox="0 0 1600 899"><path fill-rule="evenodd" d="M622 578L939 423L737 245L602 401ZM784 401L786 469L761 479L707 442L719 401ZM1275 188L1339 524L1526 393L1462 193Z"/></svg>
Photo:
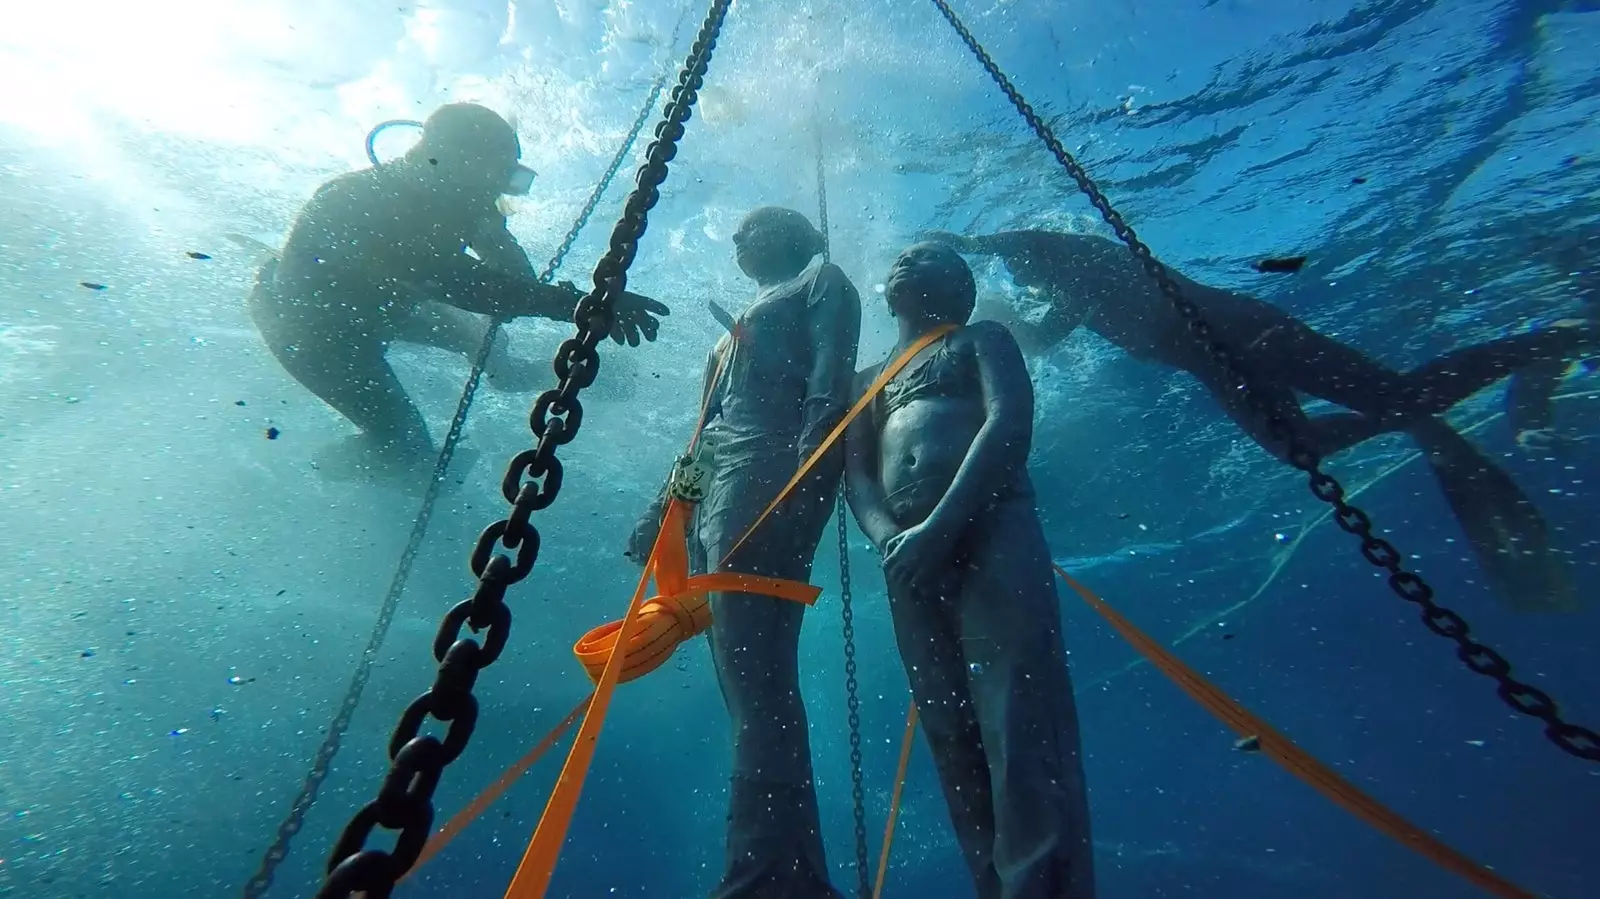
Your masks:
<svg viewBox="0 0 1600 899"><path fill-rule="evenodd" d="M856 349L861 342L861 296L837 266L824 264L822 280L808 310L811 330L811 371L806 374L805 408L797 450L800 462L822 445L850 408L850 387L856 376ZM838 469L834 469L835 472Z"/></svg>

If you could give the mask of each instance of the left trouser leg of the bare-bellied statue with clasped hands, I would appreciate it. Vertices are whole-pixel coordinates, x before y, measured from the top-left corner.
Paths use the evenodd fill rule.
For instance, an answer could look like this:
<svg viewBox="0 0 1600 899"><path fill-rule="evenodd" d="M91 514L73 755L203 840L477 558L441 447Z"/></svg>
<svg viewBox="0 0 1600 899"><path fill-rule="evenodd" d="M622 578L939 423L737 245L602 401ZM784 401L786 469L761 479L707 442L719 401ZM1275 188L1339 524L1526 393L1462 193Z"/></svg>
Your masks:
<svg viewBox="0 0 1600 899"><path fill-rule="evenodd" d="M950 811L950 825L973 875L978 899L1000 897L994 865L995 817L989 789L989 761L982 733L966 686L966 662L955 635L955 573L942 577L944 589L901 593L890 589L890 616L922 733Z"/></svg>

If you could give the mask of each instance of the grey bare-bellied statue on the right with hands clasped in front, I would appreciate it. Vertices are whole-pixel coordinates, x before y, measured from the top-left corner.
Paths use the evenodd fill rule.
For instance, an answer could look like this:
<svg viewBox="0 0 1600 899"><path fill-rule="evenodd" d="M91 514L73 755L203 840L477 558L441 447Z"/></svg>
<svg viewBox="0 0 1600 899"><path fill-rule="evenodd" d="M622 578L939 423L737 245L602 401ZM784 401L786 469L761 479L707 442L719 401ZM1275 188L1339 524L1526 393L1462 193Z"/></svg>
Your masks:
<svg viewBox="0 0 1600 899"><path fill-rule="evenodd" d="M883 553L894 641L976 894L1093 899L1078 715L1027 475L1034 386L1005 325L966 325L976 294L949 246L894 261L890 358L958 328L850 424L845 496ZM858 394L880 371L862 371Z"/></svg>

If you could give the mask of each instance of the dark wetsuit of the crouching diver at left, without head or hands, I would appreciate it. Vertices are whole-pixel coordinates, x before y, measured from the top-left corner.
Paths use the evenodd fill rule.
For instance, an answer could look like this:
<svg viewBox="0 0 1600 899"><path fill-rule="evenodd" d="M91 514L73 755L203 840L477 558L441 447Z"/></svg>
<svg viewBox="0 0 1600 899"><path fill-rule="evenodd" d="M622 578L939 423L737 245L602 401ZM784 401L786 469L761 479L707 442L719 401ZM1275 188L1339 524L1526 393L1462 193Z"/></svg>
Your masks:
<svg viewBox="0 0 1600 899"><path fill-rule="evenodd" d="M482 262L462 253L469 245ZM410 454L432 446L384 360L392 341L474 352L488 325L470 312L571 318L576 299L534 280L493 202L462 203L386 163L317 190L282 261L262 266L250 314L296 381L379 448ZM509 360L498 357L499 374ZM531 387L533 373L517 386Z"/></svg>

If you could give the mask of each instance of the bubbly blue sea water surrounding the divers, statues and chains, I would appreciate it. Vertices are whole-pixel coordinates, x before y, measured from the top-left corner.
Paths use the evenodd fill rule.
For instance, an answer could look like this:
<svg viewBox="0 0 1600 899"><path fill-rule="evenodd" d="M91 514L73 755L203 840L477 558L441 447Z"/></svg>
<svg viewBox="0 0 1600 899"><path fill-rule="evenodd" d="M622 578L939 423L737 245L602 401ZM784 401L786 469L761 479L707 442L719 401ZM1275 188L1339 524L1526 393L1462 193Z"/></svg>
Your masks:
<svg viewBox="0 0 1600 899"><path fill-rule="evenodd" d="M1547 246L1600 227L1589 0L954 5L1149 245L1197 280L1266 296L1395 366L1571 307ZM238 894L416 509L309 469L349 426L261 346L242 304L253 258L226 235L275 245L318 182L363 165L371 123L472 99L520 117L541 178L512 230L539 262L686 40L667 46L667 2L13 6L0 29L0 894ZM563 451L539 566L512 593L512 643L478 680L483 717L438 790L440 819L586 693L570 645L632 589L621 542L693 426L686 397L718 333L702 301L734 306L747 290L730 232L755 205L814 210L818 115L834 258L867 306L862 362L891 344L874 286L915 230L1096 227L931 3L736 3L630 277L674 315L661 342L608 350L602 379L626 389L592 402ZM562 277L586 278L624 190ZM1310 262L1251 270L1275 254ZM998 269L979 278L1013 291ZM565 326L510 331L518 352L547 357ZM442 429L464 365L390 358ZM1418 825L1534 894L1595 893L1600 768L1509 712L1350 537L1323 521L1286 552L1277 534L1293 541L1320 513L1296 475L1190 381L1091 336L1035 374L1032 464L1059 561ZM1456 419L1536 497L1590 593L1600 384L1565 390L1562 427L1587 440L1562 456L1517 450L1494 418L1499 389ZM501 517L499 469L526 445L528 403L480 395L466 440L483 461L453 473L462 483L440 502L272 896L314 893L338 830L374 793L395 717L432 680L438 616L470 589L467 547ZM1408 453L1374 442L1331 470L1363 485ZM1362 502L1480 638L1597 726L1600 613L1499 606L1414 459ZM875 857L907 691L875 558L853 541ZM850 886L830 537L818 555L805 689L829 857ZM1064 601L1102 897L1480 894L1234 752L1235 734ZM560 755L397 896L499 894ZM720 696L691 645L621 689L550 896L706 894L726 761ZM885 896L968 894L918 745Z"/></svg>

